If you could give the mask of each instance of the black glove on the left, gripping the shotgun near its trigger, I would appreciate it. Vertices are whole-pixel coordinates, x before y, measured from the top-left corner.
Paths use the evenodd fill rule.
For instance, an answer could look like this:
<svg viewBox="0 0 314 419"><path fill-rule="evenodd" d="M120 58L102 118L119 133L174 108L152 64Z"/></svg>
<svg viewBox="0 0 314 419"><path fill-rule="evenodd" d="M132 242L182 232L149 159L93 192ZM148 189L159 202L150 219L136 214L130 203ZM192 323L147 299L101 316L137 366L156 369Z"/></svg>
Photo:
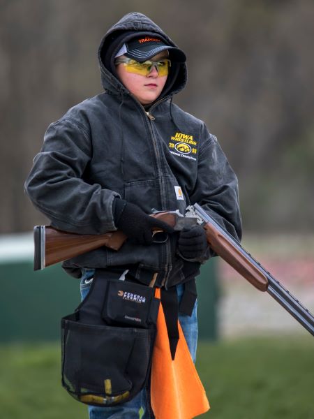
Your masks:
<svg viewBox="0 0 314 419"><path fill-rule="evenodd" d="M125 200L115 198L113 212L114 224L118 230L139 244L153 242L153 229L173 233L173 228L169 224L145 214L140 207Z"/></svg>

